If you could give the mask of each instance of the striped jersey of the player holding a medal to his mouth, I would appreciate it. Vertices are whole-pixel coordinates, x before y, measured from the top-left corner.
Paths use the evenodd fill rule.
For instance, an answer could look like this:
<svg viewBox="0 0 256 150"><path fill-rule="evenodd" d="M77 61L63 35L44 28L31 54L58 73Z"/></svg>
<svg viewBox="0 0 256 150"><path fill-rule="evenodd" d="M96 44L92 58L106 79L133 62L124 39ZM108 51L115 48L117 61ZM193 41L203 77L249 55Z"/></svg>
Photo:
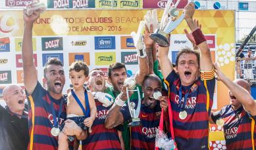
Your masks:
<svg viewBox="0 0 256 150"><path fill-rule="evenodd" d="M131 100L131 102L135 102L137 107L138 100ZM122 106L120 111L124 121L128 121L131 118L128 105ZM155 135L159 128L160 115L161 107L159 101L154 108L149 108L141 103L139 115L141 126L130 127L131 149L155 149Z"/></svg>

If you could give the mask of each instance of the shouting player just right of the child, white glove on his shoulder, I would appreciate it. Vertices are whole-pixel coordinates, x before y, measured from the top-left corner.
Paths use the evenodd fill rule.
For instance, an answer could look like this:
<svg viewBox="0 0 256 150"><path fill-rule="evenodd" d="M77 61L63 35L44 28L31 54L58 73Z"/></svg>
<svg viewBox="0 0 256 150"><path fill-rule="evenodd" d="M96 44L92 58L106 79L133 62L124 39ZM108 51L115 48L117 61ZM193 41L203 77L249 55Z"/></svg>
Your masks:
<svg viewBox="0 0 256 150"><path fill-rule="evenodd" d="M91 126L91 133L86 140L82 141L83 149L124 149L122 132L117 128L107 129L104 126L107 111L113 103L113 97L104 93L105 77L101 69L90 71L88 88L94 96L97 115Z"/></svg>

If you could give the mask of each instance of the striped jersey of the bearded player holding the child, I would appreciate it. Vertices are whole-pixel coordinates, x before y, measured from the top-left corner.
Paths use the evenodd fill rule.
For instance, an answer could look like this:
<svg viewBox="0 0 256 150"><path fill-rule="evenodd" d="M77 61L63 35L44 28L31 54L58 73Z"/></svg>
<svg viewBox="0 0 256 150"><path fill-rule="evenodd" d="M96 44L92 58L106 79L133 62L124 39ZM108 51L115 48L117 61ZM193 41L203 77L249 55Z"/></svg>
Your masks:
<svg viewBox="0 0 256 150"><path fill-rule="evenodd" d="M53 128L54 124L51 102L57 115L64 98L61 98L61 100L51 98L47 90L38 82L32 95L28 96L28 126L30 134L28 149L58 149L58 137L51 135L51 128ZM66 119L66 103L63 104L61 109L61 116L57 118L59 126Z"/></svg>

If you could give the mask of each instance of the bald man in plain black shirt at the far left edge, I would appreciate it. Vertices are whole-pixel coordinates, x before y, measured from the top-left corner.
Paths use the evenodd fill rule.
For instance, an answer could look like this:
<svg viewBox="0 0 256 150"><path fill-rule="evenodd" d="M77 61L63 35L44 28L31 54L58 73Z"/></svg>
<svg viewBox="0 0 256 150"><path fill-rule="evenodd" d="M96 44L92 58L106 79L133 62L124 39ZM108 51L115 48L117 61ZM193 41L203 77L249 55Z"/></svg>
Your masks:
<svg viewBox="0 0 256 150"><path fill-rule="evenodd" d="M27 149L28 113L24 111L24 92L19 85L9 84L3 89L3 98L7 106L0 105L0 149Z"/></svg>

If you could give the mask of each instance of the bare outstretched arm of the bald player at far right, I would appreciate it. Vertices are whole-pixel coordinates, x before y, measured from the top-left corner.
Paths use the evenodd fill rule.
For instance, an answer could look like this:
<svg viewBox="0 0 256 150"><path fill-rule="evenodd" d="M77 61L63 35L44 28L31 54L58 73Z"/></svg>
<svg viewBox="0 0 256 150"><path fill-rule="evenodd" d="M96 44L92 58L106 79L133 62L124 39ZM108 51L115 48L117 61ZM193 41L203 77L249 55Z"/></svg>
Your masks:
<svg viewBox="0 0 256 150"><path fill-rule="evenodd" d="M220 67L218 66L218 64L215 64L215 68L216 68L216 73L218 75L218 79L220 79L220 81L222 81L222 83L224 83L228 87L230 92L232 92L232 95L234 95L236 97L236 100L238 100L240 103L242 103L245 111L247 111L251 115L255 116L256 115L256 102L253 100L253 97L251 96L251 94L247 90L245 90L245 88L243 88L242 86L240 86L240 85L232 82L230 79L228 79L228 77L226 77L226 75L224 75L220 71ZM246 81L242 81L242 79L240 79L240 80L241 80L241 82L243 82L242 84L244 84L244 85L247 84L247 86L249 86L249 83L246 83Z"/></svg>

